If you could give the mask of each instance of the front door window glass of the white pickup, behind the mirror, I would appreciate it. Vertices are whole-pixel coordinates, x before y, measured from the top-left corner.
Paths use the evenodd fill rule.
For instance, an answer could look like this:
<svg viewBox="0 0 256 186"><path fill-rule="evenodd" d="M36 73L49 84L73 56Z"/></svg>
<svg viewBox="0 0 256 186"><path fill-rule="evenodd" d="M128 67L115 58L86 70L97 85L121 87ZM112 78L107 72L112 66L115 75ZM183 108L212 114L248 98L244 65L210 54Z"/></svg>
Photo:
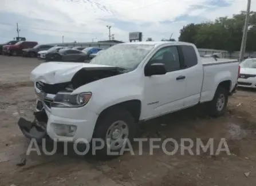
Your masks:
<svg viewBox="0 0 256 186"><path fill-rule="evenodd" d="M149 61L149 64L161 63L166 66L167 72L180 69L180 59L177 46L167 46L158 50Z"/></svg>

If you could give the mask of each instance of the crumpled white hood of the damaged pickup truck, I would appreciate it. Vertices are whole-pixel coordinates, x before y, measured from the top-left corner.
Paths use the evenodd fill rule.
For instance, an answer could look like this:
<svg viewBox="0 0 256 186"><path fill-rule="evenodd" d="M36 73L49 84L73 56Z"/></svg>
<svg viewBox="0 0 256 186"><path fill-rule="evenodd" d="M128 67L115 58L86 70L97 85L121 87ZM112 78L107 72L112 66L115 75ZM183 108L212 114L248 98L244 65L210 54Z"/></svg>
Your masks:
<svg viewBox="0 0 256 186"><path fill-rule="evenodd" d="M107 65L78 62L45 62L37 66L30 74L31 81L42 81L46 84L68 82L82 68L109 68Z"/></svg>

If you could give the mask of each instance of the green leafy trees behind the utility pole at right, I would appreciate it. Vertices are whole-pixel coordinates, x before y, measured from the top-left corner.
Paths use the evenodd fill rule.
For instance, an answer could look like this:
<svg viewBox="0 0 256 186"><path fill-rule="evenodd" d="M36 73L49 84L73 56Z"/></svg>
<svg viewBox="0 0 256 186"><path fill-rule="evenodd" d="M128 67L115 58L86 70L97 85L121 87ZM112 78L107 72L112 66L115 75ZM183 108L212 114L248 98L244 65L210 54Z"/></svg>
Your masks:
<svg viewBox="0 0 256 186"><path fill-rule="evenodd" d="M180 30L179 41L194 43L198 48L220 49L229 52L240 50L245 11L232 18L219 17L212 22L190 23ZM256 12L251 11L246 50L255 51Z"/></svg>

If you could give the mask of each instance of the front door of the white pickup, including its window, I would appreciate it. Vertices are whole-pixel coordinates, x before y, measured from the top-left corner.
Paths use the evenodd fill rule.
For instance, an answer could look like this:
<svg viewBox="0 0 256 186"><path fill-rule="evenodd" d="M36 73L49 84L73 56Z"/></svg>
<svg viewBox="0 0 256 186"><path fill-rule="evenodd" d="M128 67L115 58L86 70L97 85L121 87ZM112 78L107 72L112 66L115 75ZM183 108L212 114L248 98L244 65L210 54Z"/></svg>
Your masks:
<svg viewBox="0 0 256 186"><path fill-rule="evenodd" d="M182 68L178 46L159 49L148 61L164 64L166 74L144 77L144 101L141 119L149 119L184 107L186 97L186 70ZM146 66L147 66L146 65Z"/></svg>

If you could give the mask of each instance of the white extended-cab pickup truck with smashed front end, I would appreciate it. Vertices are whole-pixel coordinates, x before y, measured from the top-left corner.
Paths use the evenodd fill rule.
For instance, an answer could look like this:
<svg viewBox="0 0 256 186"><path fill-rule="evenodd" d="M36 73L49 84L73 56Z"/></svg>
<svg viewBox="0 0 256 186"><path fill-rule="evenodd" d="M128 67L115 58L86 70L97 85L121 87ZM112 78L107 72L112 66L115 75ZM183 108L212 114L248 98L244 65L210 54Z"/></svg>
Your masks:
<svg viewBox="0 0 256 186"><path fill-rule="evenodd" d="M89 64L37 66L30 75L36 122L20 118L18 125L30 139L101 138L108 145L100 154L119 152L141 121L204 102L212 116L222 115L238 74L237 60L200 58L191 43L121 43Z"/></svg>

